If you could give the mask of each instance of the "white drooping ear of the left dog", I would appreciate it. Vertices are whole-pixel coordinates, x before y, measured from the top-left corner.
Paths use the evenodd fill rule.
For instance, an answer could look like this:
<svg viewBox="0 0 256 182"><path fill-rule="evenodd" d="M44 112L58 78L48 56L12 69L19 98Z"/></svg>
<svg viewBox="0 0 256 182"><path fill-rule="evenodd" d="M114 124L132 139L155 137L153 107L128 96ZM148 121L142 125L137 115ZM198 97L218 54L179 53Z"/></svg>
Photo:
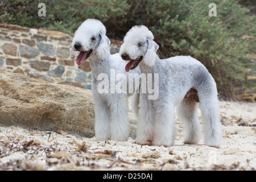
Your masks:
<svg viewBox="0 0 256 182"><path fill-rule="evenodd" d="M97 56L100 59L104 59L109 54L110 40L105 34L99 34L101 38L100 45L97 48Z"/></svg>

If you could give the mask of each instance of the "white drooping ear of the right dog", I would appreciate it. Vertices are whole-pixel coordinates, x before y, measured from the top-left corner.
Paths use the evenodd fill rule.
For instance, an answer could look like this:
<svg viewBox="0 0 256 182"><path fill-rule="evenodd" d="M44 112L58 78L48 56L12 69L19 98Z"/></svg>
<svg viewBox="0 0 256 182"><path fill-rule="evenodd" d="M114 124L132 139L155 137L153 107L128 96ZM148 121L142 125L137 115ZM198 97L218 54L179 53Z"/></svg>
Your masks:
<svg viewBox="0 0 256 182"><path fill-rule="evenodd" d="M155 64L155 56L156 51L158 50L159 46L154 42L152 39L147 39L148 46L147 46L147 52L144 55L144 63L148 65L148 67L152 67Z"/></svg>

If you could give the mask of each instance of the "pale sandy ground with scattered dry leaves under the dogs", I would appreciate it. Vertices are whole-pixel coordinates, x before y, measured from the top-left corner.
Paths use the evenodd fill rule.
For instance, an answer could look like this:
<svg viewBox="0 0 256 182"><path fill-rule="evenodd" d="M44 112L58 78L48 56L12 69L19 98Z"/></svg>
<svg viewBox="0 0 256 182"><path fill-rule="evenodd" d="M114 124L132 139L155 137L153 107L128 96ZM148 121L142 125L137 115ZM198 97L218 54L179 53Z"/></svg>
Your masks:
<svg viewBox="0 0 256 182"><path fill-rule="evenodd" d="M205 146L203 138L183 144L177 119L172 147L0 125L0 170L255 170L256 103L222 101L220 109L220 148Z"/></svg>

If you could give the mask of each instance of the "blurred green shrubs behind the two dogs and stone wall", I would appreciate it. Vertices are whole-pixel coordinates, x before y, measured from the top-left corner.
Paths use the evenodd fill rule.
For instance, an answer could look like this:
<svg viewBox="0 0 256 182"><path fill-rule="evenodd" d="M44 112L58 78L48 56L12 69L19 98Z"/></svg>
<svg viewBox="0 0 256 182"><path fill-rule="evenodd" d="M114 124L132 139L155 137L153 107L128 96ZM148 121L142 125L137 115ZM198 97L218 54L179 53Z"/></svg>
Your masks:
<svg viewBox="0 0 256 182"><path fill-rule="evenodd" d="M212 73L218 89L245 82L247 68L252 67L246 54L256 49L253 1L216 0L217 16L212 17L208 15L212 1L204 0L40 2L46 4L46 17L38 16L38 1L2 0L0 23L73 34L85 19L96 18L105 24L110 38L119 40L134 24L144 24L160 46L160 57L195 57Z"/></svg>

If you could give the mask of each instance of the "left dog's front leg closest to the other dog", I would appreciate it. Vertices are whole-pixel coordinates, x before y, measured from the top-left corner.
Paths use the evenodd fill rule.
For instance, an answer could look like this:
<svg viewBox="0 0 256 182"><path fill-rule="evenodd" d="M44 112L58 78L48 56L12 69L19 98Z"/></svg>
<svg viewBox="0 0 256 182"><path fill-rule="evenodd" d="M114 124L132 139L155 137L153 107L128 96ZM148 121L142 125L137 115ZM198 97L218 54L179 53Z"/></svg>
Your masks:
<svg viewBox="0 0 256 182"><path fill-rule="evenodd" d="M113 96L110 102L110 138L112 140L126 141L129 137L129 117L127 97Z"/></svg>

